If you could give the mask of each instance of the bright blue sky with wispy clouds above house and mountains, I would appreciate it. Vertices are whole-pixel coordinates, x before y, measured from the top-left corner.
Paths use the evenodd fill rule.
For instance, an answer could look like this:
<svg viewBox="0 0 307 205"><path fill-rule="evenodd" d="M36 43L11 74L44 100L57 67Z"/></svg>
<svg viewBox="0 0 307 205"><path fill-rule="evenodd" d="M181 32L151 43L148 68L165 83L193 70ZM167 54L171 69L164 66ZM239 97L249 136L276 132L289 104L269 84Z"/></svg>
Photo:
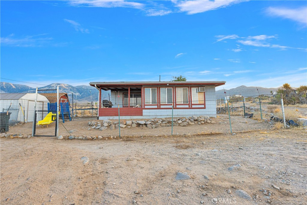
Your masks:
<svg viewBox="0 0 307 205"><path fill-rule="evenodd" d="M182 75L226 81L225 89L307 84L307 1L0 4L2 78L88 85Z"/></svg>

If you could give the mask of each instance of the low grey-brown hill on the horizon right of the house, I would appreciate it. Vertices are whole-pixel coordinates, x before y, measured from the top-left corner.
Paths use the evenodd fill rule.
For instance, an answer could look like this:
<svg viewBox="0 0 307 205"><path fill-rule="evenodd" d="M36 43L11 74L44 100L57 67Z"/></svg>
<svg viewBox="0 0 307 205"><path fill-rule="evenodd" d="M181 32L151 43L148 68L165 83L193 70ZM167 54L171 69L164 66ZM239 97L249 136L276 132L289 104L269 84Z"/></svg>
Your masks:
<svg viewBox="0 0 307 205"><path fill-rule="evenodd" d="M257 91L258 88L258 91ZM262 87L247 87L245 85L241 85L236 88L232 88L229 90L225 89L227 96L232 95L242 95L243 97L252 97L260 95L270 95L271 91L274 93L278 88L262 88ZM259 92L259 94L258 94ZM216 91L216 99L220 99L225 97L224 89Z"/></svg>

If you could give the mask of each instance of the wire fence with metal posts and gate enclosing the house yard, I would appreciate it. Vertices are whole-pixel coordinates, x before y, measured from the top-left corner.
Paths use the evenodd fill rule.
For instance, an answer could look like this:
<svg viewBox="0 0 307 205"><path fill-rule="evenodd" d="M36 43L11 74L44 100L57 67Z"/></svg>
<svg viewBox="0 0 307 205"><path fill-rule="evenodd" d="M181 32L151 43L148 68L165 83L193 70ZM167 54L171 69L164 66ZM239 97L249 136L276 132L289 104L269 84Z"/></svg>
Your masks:
<svg viewBox="0 0 307 205"><path fill-rule="evenodd" d="M297 126L301 124L300 118L306 118L306 104L289 104L283 109L282 95L269 90L266 92L259 95L255 90L246 96L225 92L225 97L216 100L206 100L206 94L186 98L182 95L177 101L165 93L159 96L161 103L155 96L150 102L145 102L140 93L130 93L130 96L109 93L102 96L101 102L93 100L99 99L98 96L78 100L73 93L67 93L60 96L58 102L59 135L108 139L122 136L234 134ZM48 114L56 113L56 93L49 93L48 97L39 93L38 96L39 112L36 116L33 97L1 99L0 110L11 113L8 133L31 135L34 117L37 135L54 133L56 125L50 121Z"/></svg>

